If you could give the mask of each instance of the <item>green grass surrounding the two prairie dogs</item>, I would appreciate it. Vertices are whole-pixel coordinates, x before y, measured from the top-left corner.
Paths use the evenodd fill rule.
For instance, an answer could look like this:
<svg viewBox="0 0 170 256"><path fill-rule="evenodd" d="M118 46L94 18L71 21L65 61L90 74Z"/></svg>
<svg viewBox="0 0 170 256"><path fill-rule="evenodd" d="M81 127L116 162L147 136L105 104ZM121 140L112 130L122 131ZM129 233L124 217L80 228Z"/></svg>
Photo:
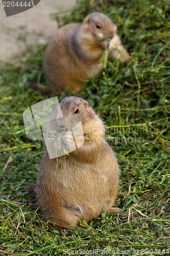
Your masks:
<svg viewBox="0 0 170 256"><path fill-rule="evenodd" d="M0 255L69 255L72 250L89 255L92 249L98 249L89 252L92 255L107 254L109 249L114 255L170 253L169 4L169 0L85 0L71 14L57 15L62 25L80 22L92 11L106 13L131 55L128 65L109 62L77 94L104 118L106 137L122 171L116 206L123 213L104 212L91 221L92 230L54 228L25 190L36 182L44 151L43 142L26 137L22 119L30 105L50 97L27 87L37 79L45 83L44 47L36 52L27 49L13 63L3 65Z"/></svg>

